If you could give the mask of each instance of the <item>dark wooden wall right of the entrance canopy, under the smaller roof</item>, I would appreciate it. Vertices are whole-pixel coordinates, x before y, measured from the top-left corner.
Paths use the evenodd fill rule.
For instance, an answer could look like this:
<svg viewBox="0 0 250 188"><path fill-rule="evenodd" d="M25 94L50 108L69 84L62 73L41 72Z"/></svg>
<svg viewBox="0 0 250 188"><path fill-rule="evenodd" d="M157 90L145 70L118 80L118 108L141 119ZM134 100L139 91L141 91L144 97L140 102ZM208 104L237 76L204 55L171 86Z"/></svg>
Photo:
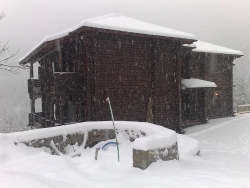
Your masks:
<svg viewBox="0 0 250 188"><path fill-rule="evenodd" d="M206 106L210 118L227 117L233 115L233 60L227 55L211 54L205 64L206 79L215 82L217 88L212 88L206 93ZM209 69L216 64L214 68ZM218 94L217 102L213 101Z"/></svg>

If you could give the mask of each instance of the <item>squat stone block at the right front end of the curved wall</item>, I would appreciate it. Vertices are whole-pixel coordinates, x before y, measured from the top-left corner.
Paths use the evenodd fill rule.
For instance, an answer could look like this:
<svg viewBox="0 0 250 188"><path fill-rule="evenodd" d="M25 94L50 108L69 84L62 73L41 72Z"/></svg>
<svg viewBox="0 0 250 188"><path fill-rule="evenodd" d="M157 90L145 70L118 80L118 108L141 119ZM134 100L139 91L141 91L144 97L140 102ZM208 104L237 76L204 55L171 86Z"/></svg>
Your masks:
<svg viewBox="0 0 250 188"><path fill-rule="evenodd" d="M145 170L150 164L159 159L163 161L179 160L177 143L169 148L159 148L148 151L133 149L133 167Z"/></svg>

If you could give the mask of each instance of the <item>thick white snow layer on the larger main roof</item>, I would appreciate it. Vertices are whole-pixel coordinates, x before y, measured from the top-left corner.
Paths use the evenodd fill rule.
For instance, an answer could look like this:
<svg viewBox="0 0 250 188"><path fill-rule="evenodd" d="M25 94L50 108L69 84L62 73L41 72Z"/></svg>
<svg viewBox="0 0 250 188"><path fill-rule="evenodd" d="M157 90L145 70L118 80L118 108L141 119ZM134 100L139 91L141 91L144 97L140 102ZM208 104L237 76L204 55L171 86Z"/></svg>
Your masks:
<svg viewBox="0 0 250 188"><path fill-rule="evenodd" d="M50 36L46 36L30 52L28 52L24 57L20 58L19 62L22 61L25 57L27 57L37 47L42 45L44 42L48 42L48 41L52 41L55 39L65 37L69 35L70 32L75 31L76 29L82 26L110 29L110 30L116 30L116 31L125 31L125 32L131 32L131 33L140 33L140 34L147 34L147 35L197 40L194 35L189 34L189 33L177 31L174 29L169 29L163 26L143 22L140 20L136 20L134 18L121 16L118 14L108 14L105 16L83 20L81 23L79 23L73 28L70 28L68 30L65 30L65 31L62 31L60 33L56 33Z"/></svg>

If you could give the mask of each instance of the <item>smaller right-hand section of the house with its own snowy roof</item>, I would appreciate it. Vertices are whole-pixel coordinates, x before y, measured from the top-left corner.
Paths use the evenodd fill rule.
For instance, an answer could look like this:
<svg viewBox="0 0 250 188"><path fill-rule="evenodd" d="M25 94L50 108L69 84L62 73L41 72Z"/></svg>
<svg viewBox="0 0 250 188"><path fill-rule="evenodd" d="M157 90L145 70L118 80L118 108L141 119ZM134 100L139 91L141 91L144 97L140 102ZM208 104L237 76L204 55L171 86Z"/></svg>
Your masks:
<svg viewBox="0 0 250 188"><path fill-rule="evenodd" d="M183 64L182 78L187 80L183 83L182 120L206 121L210 118L232 116L233 61L243 53L200 40L184 46L192 51L188 53ZM203 83L198 85L197 80L192 81L190 78L201 79ZM185 87L188 82L190 84ZM216 85L213 86L213 83Z"/></svg>

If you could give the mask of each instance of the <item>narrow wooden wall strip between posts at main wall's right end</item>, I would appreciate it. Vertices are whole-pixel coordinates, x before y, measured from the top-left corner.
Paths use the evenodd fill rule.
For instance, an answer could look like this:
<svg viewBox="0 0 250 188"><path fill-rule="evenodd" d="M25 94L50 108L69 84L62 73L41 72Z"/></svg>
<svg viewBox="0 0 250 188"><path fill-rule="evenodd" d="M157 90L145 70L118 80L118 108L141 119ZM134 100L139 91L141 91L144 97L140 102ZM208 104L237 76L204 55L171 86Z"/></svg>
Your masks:
<svg viewBox="0 0 250 188"><path fill-rule="evenodd" d="M179 123L178 70L180 43L157 41L155 46L155 123L176 128Z"/></svg>

